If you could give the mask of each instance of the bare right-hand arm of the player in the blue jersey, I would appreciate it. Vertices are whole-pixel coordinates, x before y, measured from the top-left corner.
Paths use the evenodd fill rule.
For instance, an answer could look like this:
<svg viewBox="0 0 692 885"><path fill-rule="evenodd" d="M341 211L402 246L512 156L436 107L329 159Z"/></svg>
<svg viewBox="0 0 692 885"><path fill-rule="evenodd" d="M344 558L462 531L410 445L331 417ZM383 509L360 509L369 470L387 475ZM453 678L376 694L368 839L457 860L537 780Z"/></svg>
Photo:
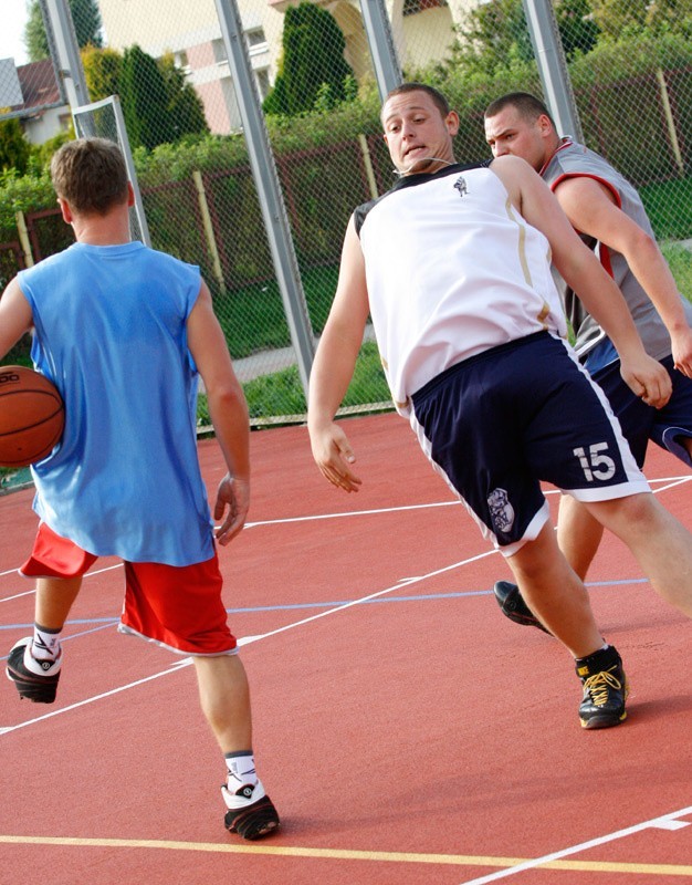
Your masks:
<svg viewBox="0 0 692 885"><path fill-rule="evenodd" d="M209 416L229 471L213 507L214 520L223 519L217 540L228 544L245 524L250 508L248 404L205 282L188 320L188 343L205 382Z"/></svg>

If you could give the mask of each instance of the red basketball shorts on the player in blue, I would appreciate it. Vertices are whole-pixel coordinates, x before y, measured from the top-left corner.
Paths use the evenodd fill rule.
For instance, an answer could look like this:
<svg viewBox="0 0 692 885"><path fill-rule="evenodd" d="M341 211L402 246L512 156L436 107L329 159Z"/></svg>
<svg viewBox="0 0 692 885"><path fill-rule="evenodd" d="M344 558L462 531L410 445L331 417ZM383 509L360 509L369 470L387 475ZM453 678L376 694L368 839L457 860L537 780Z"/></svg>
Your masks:
<svg viewBox="0 0 692 885"><path fill-rule="evenodd" d="M81 577L98 559L41 522L27 577ZM125 604L118 632L140 636L185 655L235 650L221 598L217 554L195 565L125 562Z"/></svg>

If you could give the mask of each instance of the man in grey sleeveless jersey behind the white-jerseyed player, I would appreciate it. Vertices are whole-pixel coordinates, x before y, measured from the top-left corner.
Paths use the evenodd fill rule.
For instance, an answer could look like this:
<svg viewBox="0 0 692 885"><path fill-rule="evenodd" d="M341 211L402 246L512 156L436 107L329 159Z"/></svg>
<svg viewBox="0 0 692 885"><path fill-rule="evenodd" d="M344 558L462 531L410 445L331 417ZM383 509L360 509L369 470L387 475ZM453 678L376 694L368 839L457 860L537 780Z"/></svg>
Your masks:
<svg viewBox="0 0 692 885"><path fill-rule="evenodd" d="M678 291L636 188L599 154L569 136L560 138L546 106L530 93L507 93L492 102L485 110L485 137L493 156L522 157L551 187L572 226L617 282L647 353L670 375L672 394L663 408L637 397L622 379L605 331L558 278L575 350L608 397L637 464L643 466L651 439L691 467L692 305ZM601 537L602 525L588 509L562 496L557 541L583 580ZM511 620L543 627L511 582L499 581L495 596Z"/></svg>

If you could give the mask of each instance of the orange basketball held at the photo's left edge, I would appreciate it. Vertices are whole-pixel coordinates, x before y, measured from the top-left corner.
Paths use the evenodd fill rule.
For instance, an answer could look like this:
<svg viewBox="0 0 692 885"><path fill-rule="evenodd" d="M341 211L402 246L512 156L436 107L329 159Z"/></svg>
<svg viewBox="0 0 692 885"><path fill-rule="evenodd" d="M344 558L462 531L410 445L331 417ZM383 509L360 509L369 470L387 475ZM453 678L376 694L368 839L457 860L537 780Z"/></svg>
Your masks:
<svg viewBox="0 0 692 885"><path fill-rule="evenodd" d="M65 426L55 385L25 366L0 366L0 467L28 467L51 454Z"/></svg>

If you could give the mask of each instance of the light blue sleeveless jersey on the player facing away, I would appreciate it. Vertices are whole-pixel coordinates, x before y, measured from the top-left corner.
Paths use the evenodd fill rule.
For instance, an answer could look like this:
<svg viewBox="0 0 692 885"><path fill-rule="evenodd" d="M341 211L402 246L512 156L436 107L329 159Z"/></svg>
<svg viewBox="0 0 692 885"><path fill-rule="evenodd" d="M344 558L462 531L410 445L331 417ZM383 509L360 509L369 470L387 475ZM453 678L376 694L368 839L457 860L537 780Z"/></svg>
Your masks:
<svg viewBox="0 0 692 885"><path fill-rule="evenodd" d="M36 513L96 555L208 560L187 342L199 269L140 242L75 243L19 284L33 313L32 360L65 402L63 438L32 468Z"/></svg>

